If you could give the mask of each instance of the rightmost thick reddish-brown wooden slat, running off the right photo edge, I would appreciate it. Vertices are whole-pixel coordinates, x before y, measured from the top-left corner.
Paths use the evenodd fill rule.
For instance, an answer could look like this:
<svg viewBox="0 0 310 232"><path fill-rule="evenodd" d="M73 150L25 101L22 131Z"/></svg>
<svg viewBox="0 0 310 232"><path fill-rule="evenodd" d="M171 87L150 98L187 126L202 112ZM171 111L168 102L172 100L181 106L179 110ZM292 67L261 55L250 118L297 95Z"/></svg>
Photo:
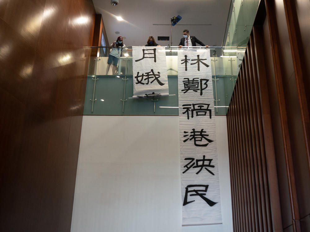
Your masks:
<svg viewBox="0 0 310 232"><path fill-rule="evenodd" d="M283 3L290 38L301 122L303 125L303 135L305 139L306 153L308 157L308 168L310 172L310 102L308 102L306 94L309 86L305 85L305 83L307 83L306 79L308 78L308 75L310 75L310 73L307 74L306 64L304 62L305 57L303 54L305 51L303 49L295 1L283 0Z"/></svg>

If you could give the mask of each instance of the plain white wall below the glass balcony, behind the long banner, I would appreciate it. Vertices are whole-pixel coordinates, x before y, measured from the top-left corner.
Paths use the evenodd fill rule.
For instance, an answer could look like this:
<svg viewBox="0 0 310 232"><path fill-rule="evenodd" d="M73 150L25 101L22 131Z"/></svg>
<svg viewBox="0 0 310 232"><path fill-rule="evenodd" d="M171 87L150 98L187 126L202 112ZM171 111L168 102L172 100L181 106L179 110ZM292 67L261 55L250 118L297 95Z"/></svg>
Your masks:
<svg viewBox="0 0 310 232"><path fill-rule="evenodd" d="M71 231L232 231L226 117L216 124L223 224L182 227L178 116L83 116Z"/></svg>

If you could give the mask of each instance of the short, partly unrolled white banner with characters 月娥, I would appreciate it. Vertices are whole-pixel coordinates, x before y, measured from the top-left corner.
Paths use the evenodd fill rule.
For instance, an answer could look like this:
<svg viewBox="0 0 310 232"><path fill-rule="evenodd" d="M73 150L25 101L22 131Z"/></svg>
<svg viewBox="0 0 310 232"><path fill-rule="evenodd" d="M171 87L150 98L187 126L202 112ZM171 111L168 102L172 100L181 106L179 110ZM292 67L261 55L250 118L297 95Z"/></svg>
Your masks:
<svg viewBox="0 0 310 232"><path fill-rule="evenodd" d="M132 47L133 97L169 94L164 47Z"/></svg>

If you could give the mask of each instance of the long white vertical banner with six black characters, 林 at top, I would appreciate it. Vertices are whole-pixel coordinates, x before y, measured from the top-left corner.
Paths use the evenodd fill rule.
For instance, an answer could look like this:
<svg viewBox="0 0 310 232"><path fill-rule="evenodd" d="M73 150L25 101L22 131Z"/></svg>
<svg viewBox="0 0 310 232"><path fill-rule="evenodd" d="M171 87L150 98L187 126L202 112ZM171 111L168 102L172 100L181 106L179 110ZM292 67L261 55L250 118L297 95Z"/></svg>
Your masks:
<svg viewBox="0 0 310 232"><path fill-rule="evenodd" d="M222 223L209 50L178 52L182 225Z"/></svg>

